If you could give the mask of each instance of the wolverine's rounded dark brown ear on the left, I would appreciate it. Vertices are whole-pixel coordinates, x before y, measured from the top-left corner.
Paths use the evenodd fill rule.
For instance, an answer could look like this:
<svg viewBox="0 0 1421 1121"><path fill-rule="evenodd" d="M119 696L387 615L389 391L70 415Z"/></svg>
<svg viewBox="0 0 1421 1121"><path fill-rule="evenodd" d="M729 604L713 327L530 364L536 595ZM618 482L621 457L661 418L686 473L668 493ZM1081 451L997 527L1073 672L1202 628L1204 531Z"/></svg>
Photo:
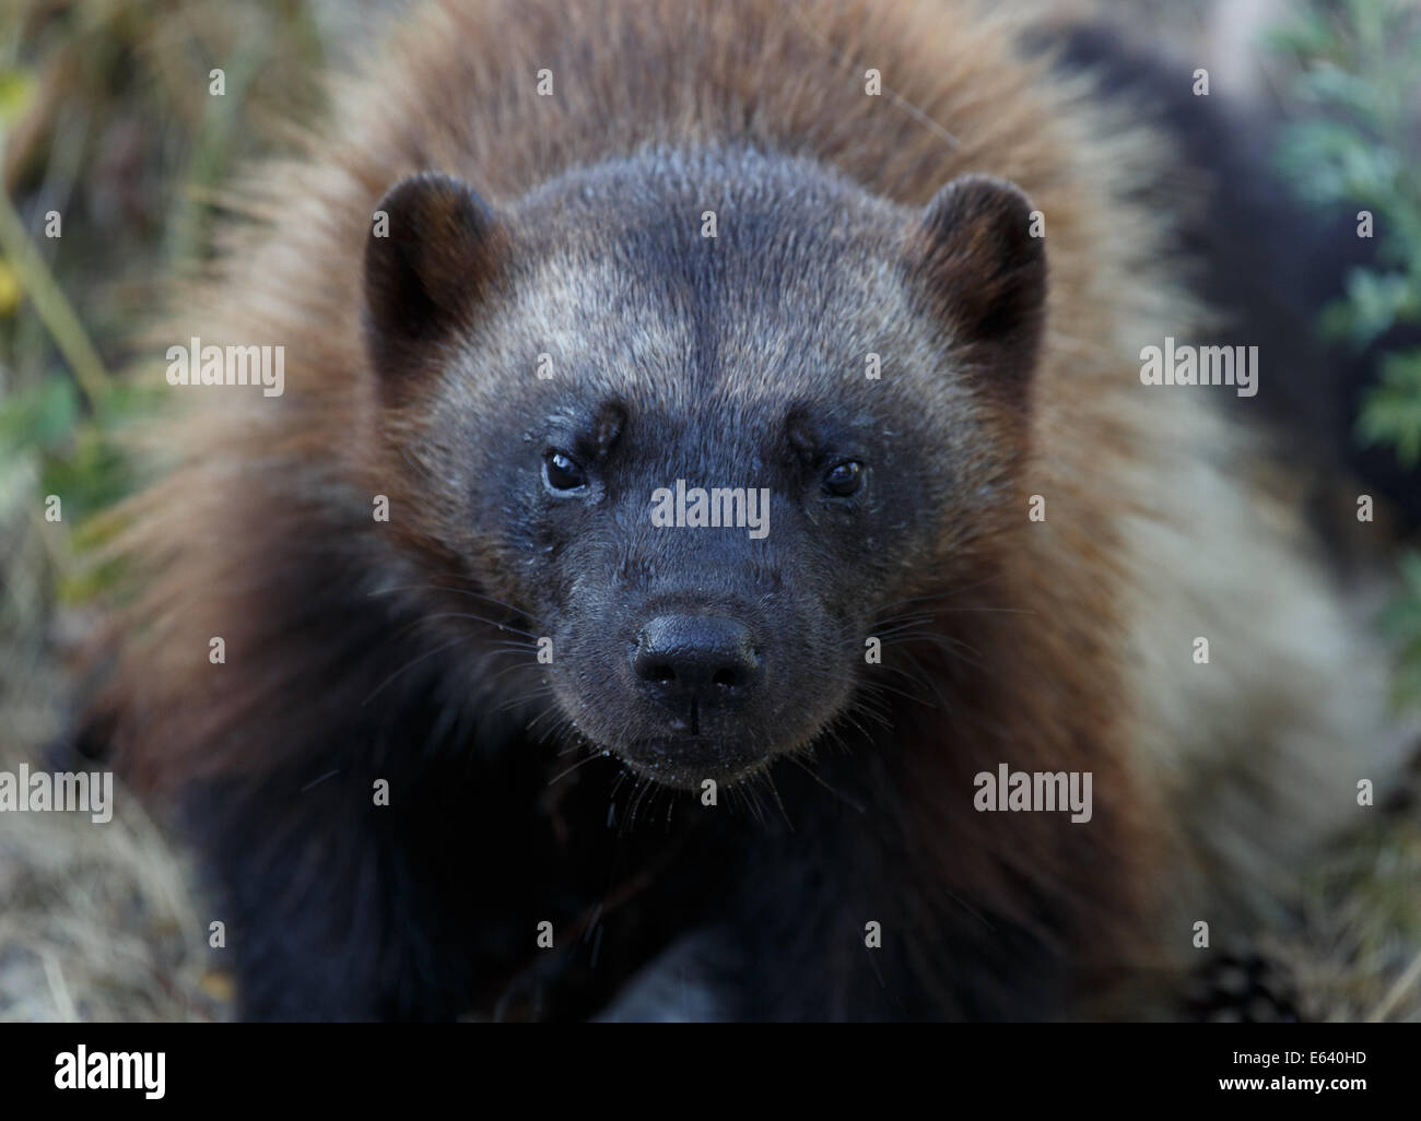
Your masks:
<svg viewBox="0 0 1421 1121"><path fill-rule="evenodd" d="M422 172L379 200L365 243L365 345L384 377L466 324L503 229L468 183Z"/></svg>

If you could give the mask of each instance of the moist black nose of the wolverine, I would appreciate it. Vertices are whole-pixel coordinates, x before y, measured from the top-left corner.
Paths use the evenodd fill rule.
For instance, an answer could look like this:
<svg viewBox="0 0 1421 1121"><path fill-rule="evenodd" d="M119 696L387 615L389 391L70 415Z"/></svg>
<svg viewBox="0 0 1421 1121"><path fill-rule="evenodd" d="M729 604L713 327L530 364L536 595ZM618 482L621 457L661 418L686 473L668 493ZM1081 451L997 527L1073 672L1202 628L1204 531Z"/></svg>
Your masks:
<svg viewBox="0 0 1421 1121"><path fill-rule="evenodd" d="M631 664L666 700L728 700L760 678L750 628L713 615L658 615L637 637Z"/></svg>

